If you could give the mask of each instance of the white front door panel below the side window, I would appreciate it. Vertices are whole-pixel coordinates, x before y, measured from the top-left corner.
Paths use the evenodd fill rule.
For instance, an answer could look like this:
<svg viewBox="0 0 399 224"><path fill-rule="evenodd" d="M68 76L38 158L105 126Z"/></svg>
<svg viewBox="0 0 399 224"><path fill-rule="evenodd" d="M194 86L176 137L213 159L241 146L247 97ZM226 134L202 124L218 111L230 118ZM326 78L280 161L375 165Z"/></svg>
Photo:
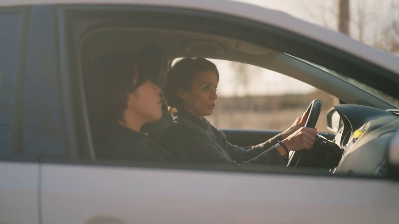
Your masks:
<svg viewBox="0 0 399 224"><path fill-rule="evenodd" d="M396 223L398 191L382 179L44 164L43 224Z"/></svg>

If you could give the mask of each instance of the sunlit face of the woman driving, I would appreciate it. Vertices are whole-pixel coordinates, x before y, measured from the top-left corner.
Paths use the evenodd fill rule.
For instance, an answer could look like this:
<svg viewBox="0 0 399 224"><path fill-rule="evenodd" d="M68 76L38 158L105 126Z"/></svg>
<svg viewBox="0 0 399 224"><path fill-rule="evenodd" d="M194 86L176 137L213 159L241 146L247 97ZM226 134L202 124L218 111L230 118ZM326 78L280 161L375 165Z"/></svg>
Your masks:
<svg viewBox="0 0 399 224"><path fill-rule="evenodd" d="M216 106L217 75L212 71L198 73L193 78L191 91L178 92L184 100L183 108L199 118L213 113Z"/></svg>

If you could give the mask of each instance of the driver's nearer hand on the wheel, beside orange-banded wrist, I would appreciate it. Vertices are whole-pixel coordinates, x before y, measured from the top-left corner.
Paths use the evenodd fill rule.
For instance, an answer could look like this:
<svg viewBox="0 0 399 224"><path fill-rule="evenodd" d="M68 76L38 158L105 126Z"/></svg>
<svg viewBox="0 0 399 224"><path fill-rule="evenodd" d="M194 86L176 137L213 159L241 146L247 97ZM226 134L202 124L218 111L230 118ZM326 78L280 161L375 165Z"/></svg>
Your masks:
<svg viewBox="0 0 399 224"><path fill-rule="evenodd" d="M311 149L316 140L317 130L302 127L281 141L288 151L298 151L301 149Z"/></svg>

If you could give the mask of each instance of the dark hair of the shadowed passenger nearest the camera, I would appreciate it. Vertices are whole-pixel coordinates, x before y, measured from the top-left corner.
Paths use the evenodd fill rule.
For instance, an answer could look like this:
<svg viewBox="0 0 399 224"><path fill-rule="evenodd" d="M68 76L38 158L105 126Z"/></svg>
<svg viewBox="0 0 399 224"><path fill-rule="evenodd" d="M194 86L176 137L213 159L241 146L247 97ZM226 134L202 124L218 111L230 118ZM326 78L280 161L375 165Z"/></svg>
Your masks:
<svg viewBox="0 0 399 224"><path fill-rule="evenodd" d="M135 66L137 69L135 69ZM120 121L127 108L128 94L151 77L133 53L117 52L95 61L102 113L108 121Z"/></svg>

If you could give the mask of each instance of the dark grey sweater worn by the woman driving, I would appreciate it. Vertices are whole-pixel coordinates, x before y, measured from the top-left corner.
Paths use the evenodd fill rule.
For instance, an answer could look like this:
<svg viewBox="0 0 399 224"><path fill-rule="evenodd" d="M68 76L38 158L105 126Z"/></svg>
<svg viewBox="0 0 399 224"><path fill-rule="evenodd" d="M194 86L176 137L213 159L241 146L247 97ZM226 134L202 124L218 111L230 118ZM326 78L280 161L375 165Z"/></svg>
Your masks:
<svg viewBox="0 0 399 224"><path fill-rule="evenodd" d="M277 151L280 134L270 140L243 149L226 140L223 132L213 127L205 118L179 110L163 137L164 148L179 162L184 163L234 163L286 165Z"/></svg>

